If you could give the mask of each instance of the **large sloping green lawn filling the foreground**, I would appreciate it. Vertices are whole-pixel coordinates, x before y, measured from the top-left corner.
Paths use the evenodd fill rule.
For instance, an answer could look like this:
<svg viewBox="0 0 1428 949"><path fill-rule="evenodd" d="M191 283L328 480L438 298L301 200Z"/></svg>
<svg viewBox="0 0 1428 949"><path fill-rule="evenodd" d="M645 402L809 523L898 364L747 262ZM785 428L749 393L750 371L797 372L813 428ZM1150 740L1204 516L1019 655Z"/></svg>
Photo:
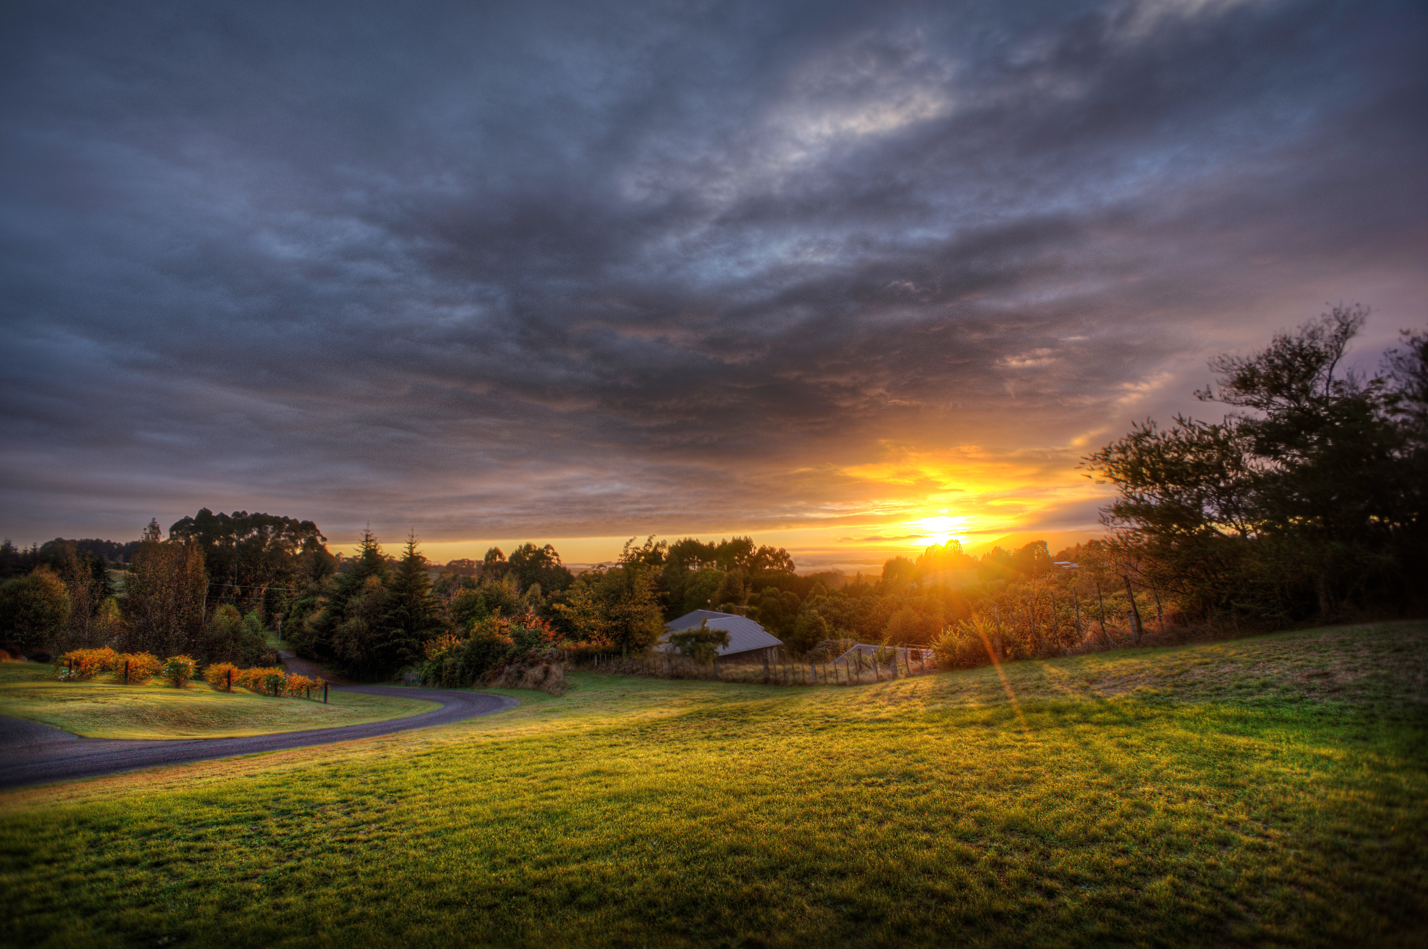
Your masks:
<svg viewBox="0 0 1428 949"><path fill-rule="evenodd" d="M863 687L577 673L3 795L0 938L1421 946L1425 666L1397 623Z"/></svg>

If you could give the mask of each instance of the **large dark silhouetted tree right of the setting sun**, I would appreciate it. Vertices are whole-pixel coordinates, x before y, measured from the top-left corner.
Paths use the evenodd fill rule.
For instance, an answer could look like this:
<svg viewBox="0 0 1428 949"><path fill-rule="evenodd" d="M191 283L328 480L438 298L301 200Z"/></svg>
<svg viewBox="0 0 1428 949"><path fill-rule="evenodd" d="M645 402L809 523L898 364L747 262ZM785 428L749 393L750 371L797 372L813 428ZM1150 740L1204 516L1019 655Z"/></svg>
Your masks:
<svg viewBox="0 0 1428 949"><path fill-rule="evenodd" d="M1197 396L1231 407L1221 422L1147 420L1088 456L1120 493L1104 513L1112 553L1201 616L1278 625L1404 602L1422 537L1414 357L1397 376L1342 372L1365 316L1335 307L1211 360L1220 384Z"/></svg>

